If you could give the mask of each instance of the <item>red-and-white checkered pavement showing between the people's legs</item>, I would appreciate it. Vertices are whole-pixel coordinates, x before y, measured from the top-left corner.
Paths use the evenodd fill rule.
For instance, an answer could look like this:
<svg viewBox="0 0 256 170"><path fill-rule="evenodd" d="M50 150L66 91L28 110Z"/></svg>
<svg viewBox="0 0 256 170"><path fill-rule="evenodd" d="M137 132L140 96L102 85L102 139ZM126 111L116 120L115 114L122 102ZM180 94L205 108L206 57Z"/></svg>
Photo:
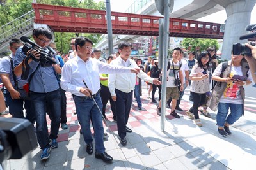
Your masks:
<svg viewBox="0 0 256 170"><path fill-rule="evenodd" d="M156 114L156 108L157 104L154 104L151 102L151 99L147 98L147 89L143 89L143 96L141 96L141 102L142 102L142 110L138 110L136 100L134 99L131 106L131 113L129 116L129 122L128 126L133 127L140 127L141 122L140 120L149 120L150 122L159 122L160 117ZM157 93L156 93L157 94ZM58 141L67 141L68 136L70 132L76 132L80 130L80 126L77 121L77 115L74 115L74 111L76 110L74 101L72 99L72 96L69 92L66 92L67 96L67 124L68 129L63 130L60 128L60 133L58 134ZM157 96L157 95L156 95ZM156 98L157 99L157 98ZM186 101L182 101L180 103L180 108L182 108L184 111L177 112L181 115L186 115L185 111L187 111L190 108L191 104L189 104ZM166 120L171 120L174 117L169 114L170 109L166 108ZM117 131L117 125L115 122L113 122L113 115L111 113L111 107L109 106L109 103L106 107L106 117L108 118L108 124L111 131L115 132ZM47 124L48 127L50 127L51 120L49 117L47 117ZM104 127L106 127L106 124L103 124ZM93 132L93 129L92 129Z"/></svg>

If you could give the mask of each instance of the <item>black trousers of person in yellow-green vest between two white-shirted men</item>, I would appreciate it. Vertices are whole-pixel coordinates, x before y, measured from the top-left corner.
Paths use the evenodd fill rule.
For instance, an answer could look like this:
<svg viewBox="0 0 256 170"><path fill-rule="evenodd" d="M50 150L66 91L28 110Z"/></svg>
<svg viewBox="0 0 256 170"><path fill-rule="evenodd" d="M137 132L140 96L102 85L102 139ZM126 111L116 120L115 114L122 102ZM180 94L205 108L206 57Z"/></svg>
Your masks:
<svg viewBox="0 0 256 170"><path fill-rule="evenodd" d="M108 87L104 86L104 85L100 85L101 89L100 89L100 97L101 97L101 101L103 104L102 107L102 114L104 115L104 117L106 116L106 105L108 103L108 100L110 101L110 106L111 106L111 110L113 113L113 117L116 117L116 104L115 101L112 100L111 94L109 92Z"/></svg>

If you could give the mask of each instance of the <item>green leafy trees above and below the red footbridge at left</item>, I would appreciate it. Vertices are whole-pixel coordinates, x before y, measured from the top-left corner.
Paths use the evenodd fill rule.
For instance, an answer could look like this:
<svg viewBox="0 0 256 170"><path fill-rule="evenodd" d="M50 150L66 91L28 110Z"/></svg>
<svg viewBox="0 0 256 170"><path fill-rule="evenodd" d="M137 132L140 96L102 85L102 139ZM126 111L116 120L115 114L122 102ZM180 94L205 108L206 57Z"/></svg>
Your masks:
<svg viewBox="0 0 256 170"><path fill-rule="evenodd" d="M33 10L31 3L32 0L0 0L0 25L7 24L15 18ZM36 0L36 3L106 10L103 0L99 3L96 3L93 0ZM54 32L57 49L63 53L68 53L68 50L70 50L70 38L77 35L76 32ZM79 34L79 36L82 35L92 39L93 43L97 43L100 38L100 34Z"/></svg>

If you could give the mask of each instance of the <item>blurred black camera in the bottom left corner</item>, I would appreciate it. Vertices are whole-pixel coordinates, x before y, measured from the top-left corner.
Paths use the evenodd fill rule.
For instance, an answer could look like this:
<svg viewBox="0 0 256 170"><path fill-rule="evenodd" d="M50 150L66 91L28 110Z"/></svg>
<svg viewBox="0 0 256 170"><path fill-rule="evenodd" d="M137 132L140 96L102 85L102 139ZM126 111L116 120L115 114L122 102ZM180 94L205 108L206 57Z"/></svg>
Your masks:
<svg viewBox="0 0 256 170"><path fill-rule="evenodd" d="M0 117L0 164L20 159L37 147L33 125L23 118Z"/></svg>

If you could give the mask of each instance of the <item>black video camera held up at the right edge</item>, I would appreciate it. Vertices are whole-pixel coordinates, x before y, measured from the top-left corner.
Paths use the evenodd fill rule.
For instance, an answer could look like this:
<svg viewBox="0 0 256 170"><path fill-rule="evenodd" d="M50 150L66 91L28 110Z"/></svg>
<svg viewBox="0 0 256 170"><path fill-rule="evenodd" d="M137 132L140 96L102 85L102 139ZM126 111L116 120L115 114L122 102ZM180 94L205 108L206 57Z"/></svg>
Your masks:
<svg viewBox="0 0 256 170"><path fill-rule="evenodd" d="M247 25L246 28L245 28L246 31L254 31L256 30L256 24L252 24L252 25ZM244 34L242 36L239 36L239 39L240 40L243 40L243 39L249 39L249 38L255 38L256 37L256 31L254 32L250 32L248 34ZM252 46L255 46L255 42L252 41L252 42L249 42L250 45ZM244 43L241 44L241 43L236 43L233 45L233 54L234 55L252 55L251 53L251 49L248 48Z"/></svg>

